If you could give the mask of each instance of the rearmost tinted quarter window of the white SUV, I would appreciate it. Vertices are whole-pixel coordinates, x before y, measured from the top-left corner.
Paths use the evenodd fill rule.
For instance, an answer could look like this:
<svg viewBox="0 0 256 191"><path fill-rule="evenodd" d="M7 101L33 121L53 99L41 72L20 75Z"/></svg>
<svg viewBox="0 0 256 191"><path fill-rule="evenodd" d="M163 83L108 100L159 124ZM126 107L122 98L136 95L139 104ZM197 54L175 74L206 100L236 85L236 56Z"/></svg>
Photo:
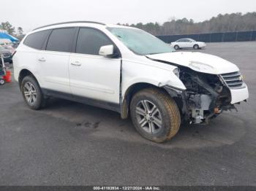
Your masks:
<svg viewBox="0 0 256 191"><path fill-rule="evenodd" d="M29 36L26 37L23 44L26 44L27 46L35 48L37 50L41 50L42 45L44 44L48 33L49 33L49 30L39 31L34 34L29 34Z"/></svg>

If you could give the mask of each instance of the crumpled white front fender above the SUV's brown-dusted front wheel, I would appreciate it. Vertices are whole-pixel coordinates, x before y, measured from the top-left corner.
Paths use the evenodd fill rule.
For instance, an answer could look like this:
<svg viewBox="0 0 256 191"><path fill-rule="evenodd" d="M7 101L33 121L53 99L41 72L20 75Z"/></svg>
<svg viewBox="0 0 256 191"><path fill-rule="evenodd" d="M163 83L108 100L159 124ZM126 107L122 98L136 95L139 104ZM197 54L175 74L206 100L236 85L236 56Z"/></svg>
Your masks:
<svg viewBox="0 0 256 191"><path fill-rule="evenodd" d="M146 59L146 63L124 60L121 69L121 117L127 118L128 116L129 100L134 93L134 87L136 87L136 91L145 87L165 86L174 87L178 90L186 90L183 82L173 73L174 69L176 69L176 66L149 59Z"/></svg>

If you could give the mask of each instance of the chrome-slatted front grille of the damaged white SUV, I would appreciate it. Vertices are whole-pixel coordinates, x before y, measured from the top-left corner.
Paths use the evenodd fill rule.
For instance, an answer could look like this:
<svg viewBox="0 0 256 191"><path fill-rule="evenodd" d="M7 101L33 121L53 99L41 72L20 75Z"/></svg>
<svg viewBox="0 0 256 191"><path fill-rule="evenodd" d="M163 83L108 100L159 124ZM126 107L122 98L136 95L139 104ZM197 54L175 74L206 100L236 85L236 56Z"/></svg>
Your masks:
<svg viewBox="0 0 256 191"><path fill-rule="evenodd" d="M221 74L221 77L226 83L226 85L230 88L244 87L243 77L241 76L241 73L239 71Z"/></svg>

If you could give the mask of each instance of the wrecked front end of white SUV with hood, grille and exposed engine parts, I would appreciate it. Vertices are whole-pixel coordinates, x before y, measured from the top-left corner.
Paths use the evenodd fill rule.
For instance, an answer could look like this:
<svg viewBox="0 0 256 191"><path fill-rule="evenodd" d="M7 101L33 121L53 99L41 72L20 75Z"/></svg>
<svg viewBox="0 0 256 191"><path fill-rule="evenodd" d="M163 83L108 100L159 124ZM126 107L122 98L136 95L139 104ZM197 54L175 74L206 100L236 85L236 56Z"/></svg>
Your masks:
<svg viewBox="0 0 256 191"><path fill-rule="evenodd" d="M222 111L231 109L237 111L234 104L240 104L240 101L246 101L248 98L243 76L233 63L202 53L177 52L176 54L187 54L189 56L187 63L178 64L176 63L178 60L174 59L175 56L165 55L162 58L161 54L148 55L147 58L177 67L173 73L181 79L186 90L178 90L171 85L165 85L164 88L178 104L185 121L197 124L208 123ZM210 56L211 60L223 63L223 66L229 66L233 70L224 69L219 64L215 67L210 61L207 64L202 61L189 61L195 59L195 56L202 61L204 57ZM223 69L224 73L215 72L213 69ZM235 94L237 95L234 96Z"/></svg>

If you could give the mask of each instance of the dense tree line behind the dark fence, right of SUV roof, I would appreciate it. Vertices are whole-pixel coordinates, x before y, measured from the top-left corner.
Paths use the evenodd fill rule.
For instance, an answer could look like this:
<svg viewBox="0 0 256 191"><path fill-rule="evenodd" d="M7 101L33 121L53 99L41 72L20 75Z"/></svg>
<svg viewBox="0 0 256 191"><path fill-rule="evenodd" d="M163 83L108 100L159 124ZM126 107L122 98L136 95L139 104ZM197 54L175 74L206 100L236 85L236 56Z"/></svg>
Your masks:
<svg viewBox="0 0 256 191"><path fill-rule="evenodd" d="M171 17L162 25L159 23L122 25L140 28L156 36L173 34L203 34L229 31L252 31L256 30L256 12L247 12L244 15L241 12L225 15L219 14L217 17L211 17L209 20L204 20L203 22L197 23L192 19L176 19L175 17Z"/></svg>

